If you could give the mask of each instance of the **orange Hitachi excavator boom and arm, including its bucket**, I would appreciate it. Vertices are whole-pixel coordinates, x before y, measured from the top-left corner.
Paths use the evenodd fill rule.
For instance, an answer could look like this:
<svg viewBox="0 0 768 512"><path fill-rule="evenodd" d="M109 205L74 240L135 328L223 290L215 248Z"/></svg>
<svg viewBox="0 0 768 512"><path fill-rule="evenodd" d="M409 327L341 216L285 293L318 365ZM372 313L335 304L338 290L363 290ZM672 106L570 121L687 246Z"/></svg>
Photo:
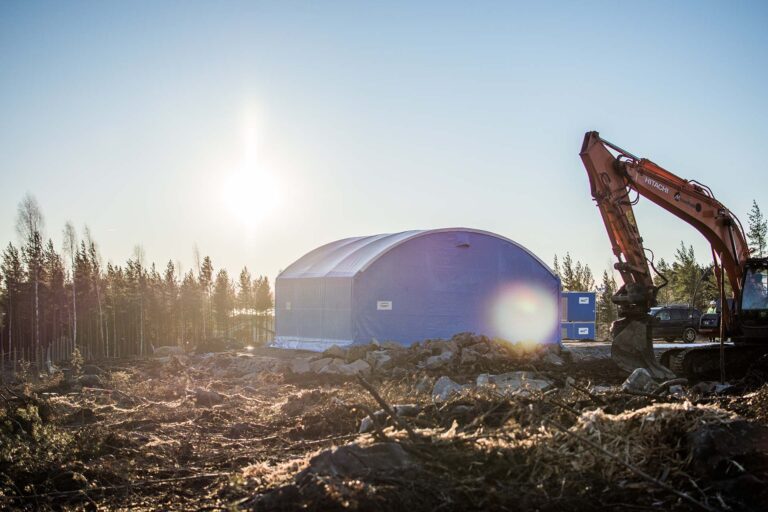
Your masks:
<svg viewBox="0 0 768 512"><path fill-rule="evenodd" d="M654 285L632 206L643 196L696 228L712 247L715 274L720 279L719 270L724 270L737 303L749 257L743 229L708 187L638 158L601 139L597 132L585 134L579 156L618 259L615 268L624 281L613 297L622 318L614 324L612 357L628 371L645 367L658 378L669 377L671 372L653 355L648 310L656 305L659 287ZM723 308L726 328L732 315Z"/></svg>

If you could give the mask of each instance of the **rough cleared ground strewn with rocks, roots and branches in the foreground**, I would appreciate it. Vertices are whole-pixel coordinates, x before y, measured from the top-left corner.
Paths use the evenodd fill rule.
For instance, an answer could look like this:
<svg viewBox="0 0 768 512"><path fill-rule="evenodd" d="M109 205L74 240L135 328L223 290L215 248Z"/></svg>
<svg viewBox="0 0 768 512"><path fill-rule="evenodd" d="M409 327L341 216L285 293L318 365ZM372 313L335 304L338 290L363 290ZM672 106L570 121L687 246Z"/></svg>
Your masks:
<svg viewBox="0 0 768 512"><path fill-rule="evenodd" d="M764 510L768 387L468 334L92 362L0 387L0 507Z"/></svg>

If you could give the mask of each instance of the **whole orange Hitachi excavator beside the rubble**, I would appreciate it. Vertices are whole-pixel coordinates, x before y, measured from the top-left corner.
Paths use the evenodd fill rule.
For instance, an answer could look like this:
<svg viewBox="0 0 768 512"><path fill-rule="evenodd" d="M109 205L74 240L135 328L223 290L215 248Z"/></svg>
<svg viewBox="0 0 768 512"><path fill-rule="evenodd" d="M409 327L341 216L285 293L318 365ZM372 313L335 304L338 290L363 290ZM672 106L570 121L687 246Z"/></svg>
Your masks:
<svg viewBox="0 0 768 512"><path fill-rule="evenodd" d="M614 268L623 280L612 298L619 313L611 327L616 364L628 372L645 368L660 380L711 378L718 372L724 379L726 371L731 377L743 373L768 353L768 258L751 257L741 223L712 190L625 151L595 131L584 135L579 156L618 260ZM709 242L722 304L719 344L673 348L656 358L649 310L657 305L666 279L656 271L653 253L644 247L637 227L633 206L640 197L687 222ZM652 271L661 276L661 284L654 284Z"/></svg>

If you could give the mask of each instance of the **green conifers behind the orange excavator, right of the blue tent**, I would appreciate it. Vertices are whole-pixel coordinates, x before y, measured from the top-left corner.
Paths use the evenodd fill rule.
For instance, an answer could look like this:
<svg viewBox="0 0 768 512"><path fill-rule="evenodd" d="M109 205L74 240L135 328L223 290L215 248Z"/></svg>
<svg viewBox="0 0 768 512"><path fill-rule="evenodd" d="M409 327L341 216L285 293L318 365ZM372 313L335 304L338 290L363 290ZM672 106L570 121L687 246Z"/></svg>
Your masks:
<svg viewBox="0 0 768 512"><path fill-rule="evenodd" d="M752 201L747 218L746 236L751 254L759 258L768 256L768 221L757 201ZM680 242L671 263L663 257L651 263L656 271L654 284L664 285L656 297L659 304L687 304L704 311L720 296L712 265L700 264L691 245L686 247L684 242ZM611 322L618 318L616 305L611 300L618 290L613 273L603 271L600 283L596 284L589 265L574 261L569 253L561 258L555 255L554 270L560 276L564 291L597 292L598 331L603 335L607 333ZM727 282L726 287L729 288Z"/></svg>

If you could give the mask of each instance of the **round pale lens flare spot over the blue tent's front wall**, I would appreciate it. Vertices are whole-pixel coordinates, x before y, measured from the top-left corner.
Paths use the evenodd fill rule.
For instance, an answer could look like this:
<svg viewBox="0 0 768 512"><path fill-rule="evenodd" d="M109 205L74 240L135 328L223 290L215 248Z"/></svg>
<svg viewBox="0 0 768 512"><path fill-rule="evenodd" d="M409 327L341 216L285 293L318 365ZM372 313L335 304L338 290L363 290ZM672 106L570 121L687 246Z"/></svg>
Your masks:
<svg viewBox="0 0 768 512"><path fill-rule="evenodd" d="M558 299L552 290L510 284L496 294L490 316L499 338L523 344L552 342L559 322Z"/></svg>

